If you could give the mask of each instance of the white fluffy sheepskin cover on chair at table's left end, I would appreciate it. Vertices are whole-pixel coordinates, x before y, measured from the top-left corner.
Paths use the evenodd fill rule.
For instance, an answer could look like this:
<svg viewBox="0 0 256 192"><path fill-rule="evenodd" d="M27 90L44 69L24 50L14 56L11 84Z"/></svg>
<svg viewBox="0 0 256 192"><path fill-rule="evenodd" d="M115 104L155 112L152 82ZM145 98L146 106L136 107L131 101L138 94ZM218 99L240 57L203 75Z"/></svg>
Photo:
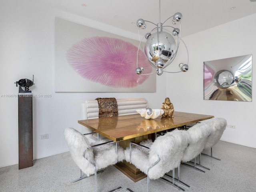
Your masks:
<svg viewBox="0 0 256 192"><path fill-rule="evenodd" d="M91 148L86 136L74 128L66 128L64 136L72 159L87 176L94 174L94 164L97 170L100 170L124 160L124 150L120 146L118 146L118 154L116 154L115 144L103 144L102 146ZM101 140L94 144L104 142L106 141Z"/></svg>

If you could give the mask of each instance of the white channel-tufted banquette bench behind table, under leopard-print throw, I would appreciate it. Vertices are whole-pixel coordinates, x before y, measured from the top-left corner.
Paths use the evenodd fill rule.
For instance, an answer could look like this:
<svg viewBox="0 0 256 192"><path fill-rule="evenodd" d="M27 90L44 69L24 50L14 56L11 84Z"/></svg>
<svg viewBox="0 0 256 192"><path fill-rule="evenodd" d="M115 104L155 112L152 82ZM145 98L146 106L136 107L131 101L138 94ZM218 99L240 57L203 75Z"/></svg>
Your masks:
<svg viewBox="0 0 256 192"><path fill-rule="evenodd" d="M145 98L127 98L127 99L116 99L118 106L118 116L137 114L136 109L145 109L148 107L148 100ZM97 100L86 100L82 103L82 119L93 119L98 118L99 106ZM84 127L84 126L83 126ZM92 130L84 127L83 133L90 133ZM96 134L92 137L94 140L97 139Z"/></svg>

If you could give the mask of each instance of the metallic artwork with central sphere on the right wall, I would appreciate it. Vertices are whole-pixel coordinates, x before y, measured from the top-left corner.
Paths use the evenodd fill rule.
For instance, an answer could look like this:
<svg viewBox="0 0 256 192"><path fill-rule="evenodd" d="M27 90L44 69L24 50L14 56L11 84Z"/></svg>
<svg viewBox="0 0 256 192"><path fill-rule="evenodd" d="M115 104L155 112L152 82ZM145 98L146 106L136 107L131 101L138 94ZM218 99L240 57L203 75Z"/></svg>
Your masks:
<svg viewBox="0 0 256 192"><path fill-rule="evenodd" d="M204 62L204 100L252 101L252 54Z"/></svg>

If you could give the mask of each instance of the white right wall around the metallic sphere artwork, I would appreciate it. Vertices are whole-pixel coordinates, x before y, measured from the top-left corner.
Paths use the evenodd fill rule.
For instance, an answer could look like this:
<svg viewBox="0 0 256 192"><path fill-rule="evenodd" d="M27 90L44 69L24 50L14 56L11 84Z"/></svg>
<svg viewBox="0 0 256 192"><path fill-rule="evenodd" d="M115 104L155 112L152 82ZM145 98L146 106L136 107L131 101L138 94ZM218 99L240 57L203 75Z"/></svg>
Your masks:
<svg viewBox="0 0 256 192"><path fill-rule="evenodd" d="M184 38L190 55L188 72L167 77L167 96L174 109L226 118L236 128L226 128L221 140L256 148L255 108L252 102L204 100L204 61L252 54L252 84L256 57L256 14ZM184 53L185 54L185 53ZM181 56L182 57L182 56ZM176 58L177 59L177 58ZM177 86L178 85L178 86Z"/></svg>

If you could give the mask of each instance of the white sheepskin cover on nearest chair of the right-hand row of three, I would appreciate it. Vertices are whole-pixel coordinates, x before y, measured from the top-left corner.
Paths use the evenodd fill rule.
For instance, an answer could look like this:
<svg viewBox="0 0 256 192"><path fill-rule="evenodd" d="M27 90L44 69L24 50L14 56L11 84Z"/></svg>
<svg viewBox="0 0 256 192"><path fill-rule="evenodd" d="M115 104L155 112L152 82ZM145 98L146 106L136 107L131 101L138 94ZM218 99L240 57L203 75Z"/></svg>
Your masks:
<svg viewBox="0 0 256 192"><path fill-rule="evenodd" d="M142 141L140 144L150 147L150 150L141 150L133 146L131 163L145 174L148 174L150 179L158 179L180 165L188 141L189 136L185 130L168 132L164 136L157 137L154 142L152 140ZM129 161L129 148L126 148L125 155L126 161ZM148 168L157 161L158 155L160 161L148 172Z"/></svg>

